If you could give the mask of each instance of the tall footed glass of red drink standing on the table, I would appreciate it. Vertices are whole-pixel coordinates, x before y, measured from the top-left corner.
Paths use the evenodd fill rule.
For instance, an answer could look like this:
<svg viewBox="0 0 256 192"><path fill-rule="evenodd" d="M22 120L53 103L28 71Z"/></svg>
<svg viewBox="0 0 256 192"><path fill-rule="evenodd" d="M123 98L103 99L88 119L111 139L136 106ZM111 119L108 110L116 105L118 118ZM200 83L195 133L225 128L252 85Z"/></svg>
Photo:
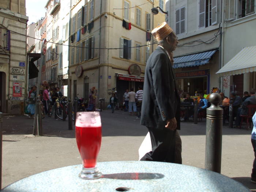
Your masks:
<svg viewBox="0 0 256 192"><path fill-rule="evenodd" d="M96 179L102 176L96 162L101 147L101 116L99 112L76 113L76 143L82 157L83 169L79 177Z"/></svg>

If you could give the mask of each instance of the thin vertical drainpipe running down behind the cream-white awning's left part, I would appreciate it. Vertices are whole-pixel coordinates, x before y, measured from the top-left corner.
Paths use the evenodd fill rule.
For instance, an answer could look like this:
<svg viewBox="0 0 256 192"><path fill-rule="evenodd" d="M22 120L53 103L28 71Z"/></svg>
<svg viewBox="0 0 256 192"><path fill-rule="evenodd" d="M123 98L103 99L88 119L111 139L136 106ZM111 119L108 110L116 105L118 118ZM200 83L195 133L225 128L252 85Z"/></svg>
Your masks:
<svg viewBox="0 0 256 192"><path fill-rule="evenodd" d="M220 56L219 56L219 69L223 67L224 63L224 0L221 1L221 39L220 39ZM223 92L223 77L219 78L219 89Z"/></svg>

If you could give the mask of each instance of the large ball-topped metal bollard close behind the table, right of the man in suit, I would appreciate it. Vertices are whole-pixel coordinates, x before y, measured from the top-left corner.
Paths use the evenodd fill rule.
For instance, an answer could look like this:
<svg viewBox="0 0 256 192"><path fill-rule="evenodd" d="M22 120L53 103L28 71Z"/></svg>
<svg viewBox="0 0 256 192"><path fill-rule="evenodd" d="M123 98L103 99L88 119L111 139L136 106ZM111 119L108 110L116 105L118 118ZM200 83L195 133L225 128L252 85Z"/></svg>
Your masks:
<svg viewBox="0 0 256 192"><path fill-rule="evenodd" d="M223 109L219 107L221 95L212 93L206 115L206 148L205 164L207 170L221 173L221 146L222 146L222 120Z"/></svg>

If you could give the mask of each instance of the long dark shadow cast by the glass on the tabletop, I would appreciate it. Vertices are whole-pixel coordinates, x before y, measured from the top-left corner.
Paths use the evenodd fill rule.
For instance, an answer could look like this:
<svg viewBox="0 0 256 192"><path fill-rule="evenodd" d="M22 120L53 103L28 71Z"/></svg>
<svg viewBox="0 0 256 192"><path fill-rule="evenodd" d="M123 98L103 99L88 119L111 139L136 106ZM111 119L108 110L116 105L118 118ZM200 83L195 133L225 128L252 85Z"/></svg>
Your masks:
<svg viewBox="0 0 256 192"><path fill-rule="evenodd" d="M146 179L161 179L164 175L160 173L114 173L104 174L102 178L123 179L123 180L146 180Z"/></svg>

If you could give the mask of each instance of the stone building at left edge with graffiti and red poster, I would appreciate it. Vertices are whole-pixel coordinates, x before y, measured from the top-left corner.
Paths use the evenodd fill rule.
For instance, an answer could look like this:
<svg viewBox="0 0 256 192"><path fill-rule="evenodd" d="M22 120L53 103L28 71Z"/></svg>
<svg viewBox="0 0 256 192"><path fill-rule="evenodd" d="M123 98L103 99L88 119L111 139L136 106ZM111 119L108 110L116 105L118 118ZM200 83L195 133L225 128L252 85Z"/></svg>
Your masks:
<svg viewBox="0 0 256 192"><path fill-rule="evenodd" d="M23 113L26 94L25 0L0 4L0 111Z"/></svg>

